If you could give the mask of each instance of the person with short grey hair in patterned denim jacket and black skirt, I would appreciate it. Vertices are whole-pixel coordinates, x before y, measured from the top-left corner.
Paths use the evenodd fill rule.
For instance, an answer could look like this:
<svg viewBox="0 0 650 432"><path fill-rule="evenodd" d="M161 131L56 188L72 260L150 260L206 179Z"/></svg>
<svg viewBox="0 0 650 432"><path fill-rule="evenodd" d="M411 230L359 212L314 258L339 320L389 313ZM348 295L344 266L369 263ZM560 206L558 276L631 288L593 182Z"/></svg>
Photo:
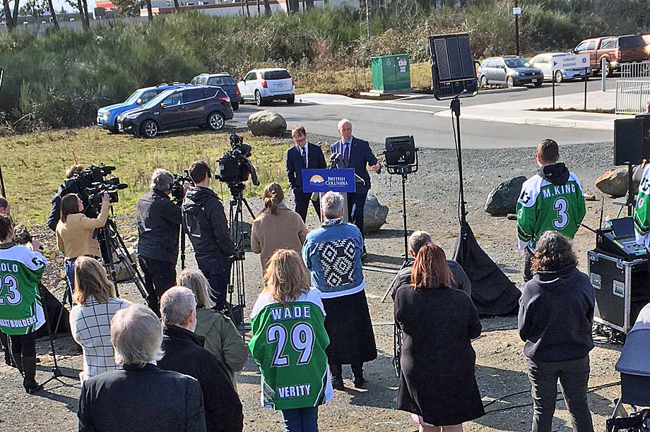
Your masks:
<svg viewBox="0 0 650 432"><path fill-rule="evenodd" d="M361 271L363 238L355 225L341 219L341 193L326 193L321 212L324 222L307 234L302 260L311 271L312 287L320 290L323 299L332 386L343 390L341 365L350 364L355 387L365 388L363 364L377 359L377 345Z"/></svg>

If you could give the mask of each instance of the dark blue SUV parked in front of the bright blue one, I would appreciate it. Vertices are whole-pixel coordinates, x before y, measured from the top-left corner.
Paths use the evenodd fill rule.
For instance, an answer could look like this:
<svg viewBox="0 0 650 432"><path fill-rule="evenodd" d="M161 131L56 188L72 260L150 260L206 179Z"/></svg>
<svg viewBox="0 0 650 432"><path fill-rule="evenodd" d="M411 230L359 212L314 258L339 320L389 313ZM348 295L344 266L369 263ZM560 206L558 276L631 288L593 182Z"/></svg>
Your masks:
<svg viewBox="0 0 650 432"><path fill-rule="evenodd" d="M209 85L167 90L142 107L117 116L117 128L134 136L154 138L158 132L191 126L223 128L232 119L232 107L226 93Z"/></svg>

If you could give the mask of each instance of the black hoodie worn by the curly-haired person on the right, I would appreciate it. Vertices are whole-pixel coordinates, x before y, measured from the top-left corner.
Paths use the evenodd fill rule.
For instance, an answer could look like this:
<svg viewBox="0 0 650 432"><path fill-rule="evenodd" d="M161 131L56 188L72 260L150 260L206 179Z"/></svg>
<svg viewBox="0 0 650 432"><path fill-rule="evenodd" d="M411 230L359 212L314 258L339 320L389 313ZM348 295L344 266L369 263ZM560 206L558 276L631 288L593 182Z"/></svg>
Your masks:
<svg viewBox="0 0 650 432"><path fill-rule="evenodd" d="M593 348L593 287L575 267L536 272L519 299L519 336L533 361L581 359Z"/></svg>

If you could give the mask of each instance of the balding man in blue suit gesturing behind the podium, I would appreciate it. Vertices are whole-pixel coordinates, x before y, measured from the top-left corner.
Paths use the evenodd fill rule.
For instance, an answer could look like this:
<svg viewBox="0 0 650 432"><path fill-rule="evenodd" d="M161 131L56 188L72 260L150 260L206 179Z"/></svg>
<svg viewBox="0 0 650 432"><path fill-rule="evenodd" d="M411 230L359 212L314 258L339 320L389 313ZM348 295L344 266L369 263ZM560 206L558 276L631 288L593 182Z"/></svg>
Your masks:
<svg viewBox="0 0 650 432"><path fill-rule="evenodd" d="M352 136L352 123L350 120L343 119L338 122L338 134L341 136L341 140L336 141L330 147L332 155L335 153L341 155L338 168L353 168L355 174L360 176L365 183L357 184L355 193L348 193L348 220L355 224L365 237L363 232L363 209L370 189L370 174L368 174L367 166L370 166L373 172L379 173L382 165L379 164L377 157L372 153L370 144L367 141ZM366 255L364 246L362 258L365 258Z"/></svg>

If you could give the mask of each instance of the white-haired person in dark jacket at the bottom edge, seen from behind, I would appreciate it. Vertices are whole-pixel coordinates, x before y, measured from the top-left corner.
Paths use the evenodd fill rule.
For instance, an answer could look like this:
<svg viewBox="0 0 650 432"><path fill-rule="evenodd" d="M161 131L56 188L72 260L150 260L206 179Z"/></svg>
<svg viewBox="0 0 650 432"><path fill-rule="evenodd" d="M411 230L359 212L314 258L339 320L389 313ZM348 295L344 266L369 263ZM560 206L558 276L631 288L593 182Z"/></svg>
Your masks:
<svg viewBox="0 0 650 432"><path fill-rule="evenodd" d="M79 432L205 432L199 381L155 365L162 359L160 319L143 304L117 311L111 320L115 361L122 369L81 385Z"/></svg>

